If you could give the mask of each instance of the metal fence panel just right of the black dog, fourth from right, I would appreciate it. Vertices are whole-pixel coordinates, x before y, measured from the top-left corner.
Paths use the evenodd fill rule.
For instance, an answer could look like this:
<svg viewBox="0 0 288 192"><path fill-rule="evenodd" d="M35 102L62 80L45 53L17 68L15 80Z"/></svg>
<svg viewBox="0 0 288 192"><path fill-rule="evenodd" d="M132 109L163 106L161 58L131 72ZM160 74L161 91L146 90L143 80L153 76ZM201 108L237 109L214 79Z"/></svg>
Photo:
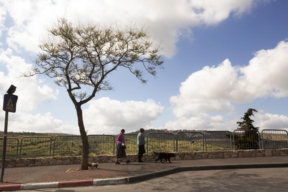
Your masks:
<svg viewBox="0 0 288 192"><path fill-rule="evenodd" d="M176 134L176 152L204 151L204 134L179 131Z"/></svg>

